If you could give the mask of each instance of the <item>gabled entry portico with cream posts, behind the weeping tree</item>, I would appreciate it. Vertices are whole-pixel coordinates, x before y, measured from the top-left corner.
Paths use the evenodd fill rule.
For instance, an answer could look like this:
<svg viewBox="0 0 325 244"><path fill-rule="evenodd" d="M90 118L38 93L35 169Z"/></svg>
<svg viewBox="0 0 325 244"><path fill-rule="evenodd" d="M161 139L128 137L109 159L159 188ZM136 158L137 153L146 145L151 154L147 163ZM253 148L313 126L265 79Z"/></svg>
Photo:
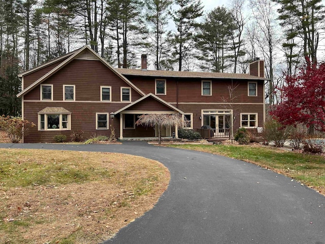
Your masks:
<svg viewBox="0 0 325 244"><path fill-rule="evenodd" d="M114 112L112 115L119 120L119 139L123 138L152 138L157 137L157 129L136 125L138 117L142 114L184 114L178 108L153 94L148 94L139 100ZM162 128L163 137L170 137L175 132L178 138L178 128Z"/></svg>

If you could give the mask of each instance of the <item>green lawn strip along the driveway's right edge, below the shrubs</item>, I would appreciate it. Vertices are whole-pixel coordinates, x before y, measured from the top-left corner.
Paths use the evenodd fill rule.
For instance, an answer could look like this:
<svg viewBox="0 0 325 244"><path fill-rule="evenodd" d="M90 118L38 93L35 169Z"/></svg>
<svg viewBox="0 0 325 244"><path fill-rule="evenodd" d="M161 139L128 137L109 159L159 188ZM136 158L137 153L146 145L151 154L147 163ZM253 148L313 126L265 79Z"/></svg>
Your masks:
<svg viewBox="0 0 325 244"><path fill-rule="evenodd" d="M278 148L238 145L169 145L177 148L205 151L250 162L313 186L320 192L325 187L325 158Z"/></svg>

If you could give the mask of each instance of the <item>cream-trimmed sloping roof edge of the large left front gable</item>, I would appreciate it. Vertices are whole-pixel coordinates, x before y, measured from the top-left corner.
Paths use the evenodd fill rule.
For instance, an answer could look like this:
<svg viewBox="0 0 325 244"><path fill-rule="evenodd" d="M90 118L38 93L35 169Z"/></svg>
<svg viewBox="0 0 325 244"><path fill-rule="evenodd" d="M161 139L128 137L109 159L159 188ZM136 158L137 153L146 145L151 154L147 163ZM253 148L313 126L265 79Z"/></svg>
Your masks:
<svg viewBox="0 0 325 244"><path fill-rule="evenodd" d="M51 77L53 74L55 74L57 71L62 69L64 66L68 65L72 60L77 58L79 55L81 55L85 50L90 51L96 58L98 58L106 67L108 67L111 71L113 71L118 77L120 77L123 81L125 81L128 85L130 85L132 88L134 88L140 95L145 96L145 94L140 90L137 86L135 86L131 81L129 81L127 78L125 78L121 73L119 73L116 69L114 69L110 64L106 62L104 58L99 56L97 53L95 53L89 46L83 46L82 48L74 51L72 55L70 55L66 60L64 60L61 64L56 66L54 69L52 69L50 72L46 73L44 76L42 76L40 79L29 85L26 89L22 90L17 97L21 97L22 95L28 93L31 89L35 88L39 84L41 84L43 81ZM54 59L56 60L56 59ZM54 63L53 60L53 63ZM36 68L35 68L36 69ZM30 70L31 72L31 70ZM34 71L33 71L34 72ZM28 71L25 73L22 73L21 75L28 74Z"/></svg>

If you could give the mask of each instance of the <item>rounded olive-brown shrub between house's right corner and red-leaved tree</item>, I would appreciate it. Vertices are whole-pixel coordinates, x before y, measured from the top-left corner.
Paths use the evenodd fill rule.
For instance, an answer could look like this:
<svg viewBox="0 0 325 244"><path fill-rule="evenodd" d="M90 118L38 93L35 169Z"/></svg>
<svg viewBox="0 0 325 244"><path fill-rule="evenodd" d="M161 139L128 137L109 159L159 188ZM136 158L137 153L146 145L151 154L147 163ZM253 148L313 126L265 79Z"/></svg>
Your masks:
<svg viewBox="0 0 325 244"><path fill-rule="evenodd" d="M264 123L263 138L273 141L274 146L282 147L289 138L291 130L291 127L285 127L276 119L269 118Z"/></svg>

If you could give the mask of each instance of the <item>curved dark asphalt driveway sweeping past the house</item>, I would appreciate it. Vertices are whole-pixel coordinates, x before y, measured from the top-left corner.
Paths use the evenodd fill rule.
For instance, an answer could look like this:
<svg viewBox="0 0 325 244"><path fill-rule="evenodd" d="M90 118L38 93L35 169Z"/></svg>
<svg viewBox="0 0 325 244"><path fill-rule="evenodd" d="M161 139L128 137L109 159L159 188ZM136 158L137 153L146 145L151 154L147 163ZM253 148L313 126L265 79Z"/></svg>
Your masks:
<svg viewBox="0 0 325 244"><path fill-rule="evenodd" d="M108 151L166 165L171 181L158 203L105 244L325 243L325 197L243 161L145 142L0 147Z"/></svg>

